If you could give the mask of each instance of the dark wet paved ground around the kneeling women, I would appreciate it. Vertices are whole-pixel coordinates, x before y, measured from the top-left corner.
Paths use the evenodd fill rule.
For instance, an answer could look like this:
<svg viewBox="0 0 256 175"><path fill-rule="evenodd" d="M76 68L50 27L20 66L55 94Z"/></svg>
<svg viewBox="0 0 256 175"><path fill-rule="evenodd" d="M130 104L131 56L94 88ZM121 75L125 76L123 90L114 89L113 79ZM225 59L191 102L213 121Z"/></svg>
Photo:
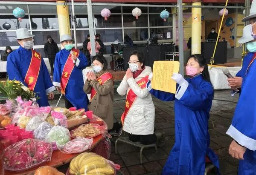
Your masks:
<svg viewBox="0 0 256 175"><path fill-rule="evenodd" d="M209 119L210 147L217 152L220 161L221 175L236 175L238 161L228 154L228 148L232 139L225 134L230 126L234 109L239 95L230 96L230 90L215 91L214 100ZM155 105L155 127L158 131L166 133L166 145L154 149L143 151L143 164L140 164L139 151L137 147L118 143L118 155L115 155L114 145L111 147L110 160L121 165L121 172L124 175L160 175L172 146L174 145L174 102L163 102L153 98ZM51 101L55 106L57 100ZM116 121L120 121L125 105L125 97L115 95L113 115ZM61 106L64 101L61 100ZM123 137L122 134L121 137ZM115 141L116 138L113 138Z"/></svg>

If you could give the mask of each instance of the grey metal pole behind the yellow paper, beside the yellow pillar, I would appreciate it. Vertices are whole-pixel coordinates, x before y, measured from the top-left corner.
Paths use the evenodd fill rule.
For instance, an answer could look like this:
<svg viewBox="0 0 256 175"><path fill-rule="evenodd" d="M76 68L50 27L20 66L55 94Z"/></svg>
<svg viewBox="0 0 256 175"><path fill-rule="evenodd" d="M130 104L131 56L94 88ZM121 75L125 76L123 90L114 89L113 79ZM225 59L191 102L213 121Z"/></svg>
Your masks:
<svg viewBox="0 0 256 175"><path fill-rule="evenodd" d="M179 32L179 62L180 74L184 76L184 54L183 54L183 11L182 0L177 0L178 8L178 32Z"/></svg>

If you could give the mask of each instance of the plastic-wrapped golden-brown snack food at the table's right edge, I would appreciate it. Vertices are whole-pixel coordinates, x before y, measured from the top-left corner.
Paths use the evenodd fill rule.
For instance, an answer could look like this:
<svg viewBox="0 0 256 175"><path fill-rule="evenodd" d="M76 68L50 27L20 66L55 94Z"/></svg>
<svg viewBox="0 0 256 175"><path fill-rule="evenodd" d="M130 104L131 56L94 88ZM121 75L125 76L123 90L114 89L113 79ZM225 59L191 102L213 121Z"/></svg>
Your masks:
<svg viewBox="0 0 256 175"><path fill-rule="evenodd" d="M70 132L73 138L76 138L76 137L94 138L97 135L100 135L101 133L102 133L101 126L94 123L81 125L77 129L74 129L73 131Z"/></svg>

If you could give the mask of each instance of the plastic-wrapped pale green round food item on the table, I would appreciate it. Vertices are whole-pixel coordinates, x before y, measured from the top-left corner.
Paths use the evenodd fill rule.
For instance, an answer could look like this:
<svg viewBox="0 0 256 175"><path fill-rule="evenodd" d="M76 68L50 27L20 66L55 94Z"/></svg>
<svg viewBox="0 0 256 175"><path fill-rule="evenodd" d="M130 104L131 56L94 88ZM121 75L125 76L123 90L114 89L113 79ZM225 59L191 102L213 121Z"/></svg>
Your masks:
<svg viewBox="0 0 256 175"><path fill-rule="evenodd" d="M53 126L45 140L48 142L56 142L58 149L62 149L63 146L70 141L70 132L67 128Z"/></svg>

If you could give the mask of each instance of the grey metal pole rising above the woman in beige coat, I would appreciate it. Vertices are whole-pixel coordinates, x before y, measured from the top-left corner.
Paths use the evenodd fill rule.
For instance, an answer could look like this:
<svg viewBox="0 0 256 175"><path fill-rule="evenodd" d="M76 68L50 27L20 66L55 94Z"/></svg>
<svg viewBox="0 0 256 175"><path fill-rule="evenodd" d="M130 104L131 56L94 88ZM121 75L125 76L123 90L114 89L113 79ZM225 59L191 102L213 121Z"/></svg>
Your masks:
<svg viewBox="0 0 256 175"><path fill-rule="evenodd" d="M88 25L90 34L90 43L92 49L92 56L96 55L95 42L94 42L94 32L93 32L93 8L92 0L87 0L87 13L88 13Z"/></svg>

